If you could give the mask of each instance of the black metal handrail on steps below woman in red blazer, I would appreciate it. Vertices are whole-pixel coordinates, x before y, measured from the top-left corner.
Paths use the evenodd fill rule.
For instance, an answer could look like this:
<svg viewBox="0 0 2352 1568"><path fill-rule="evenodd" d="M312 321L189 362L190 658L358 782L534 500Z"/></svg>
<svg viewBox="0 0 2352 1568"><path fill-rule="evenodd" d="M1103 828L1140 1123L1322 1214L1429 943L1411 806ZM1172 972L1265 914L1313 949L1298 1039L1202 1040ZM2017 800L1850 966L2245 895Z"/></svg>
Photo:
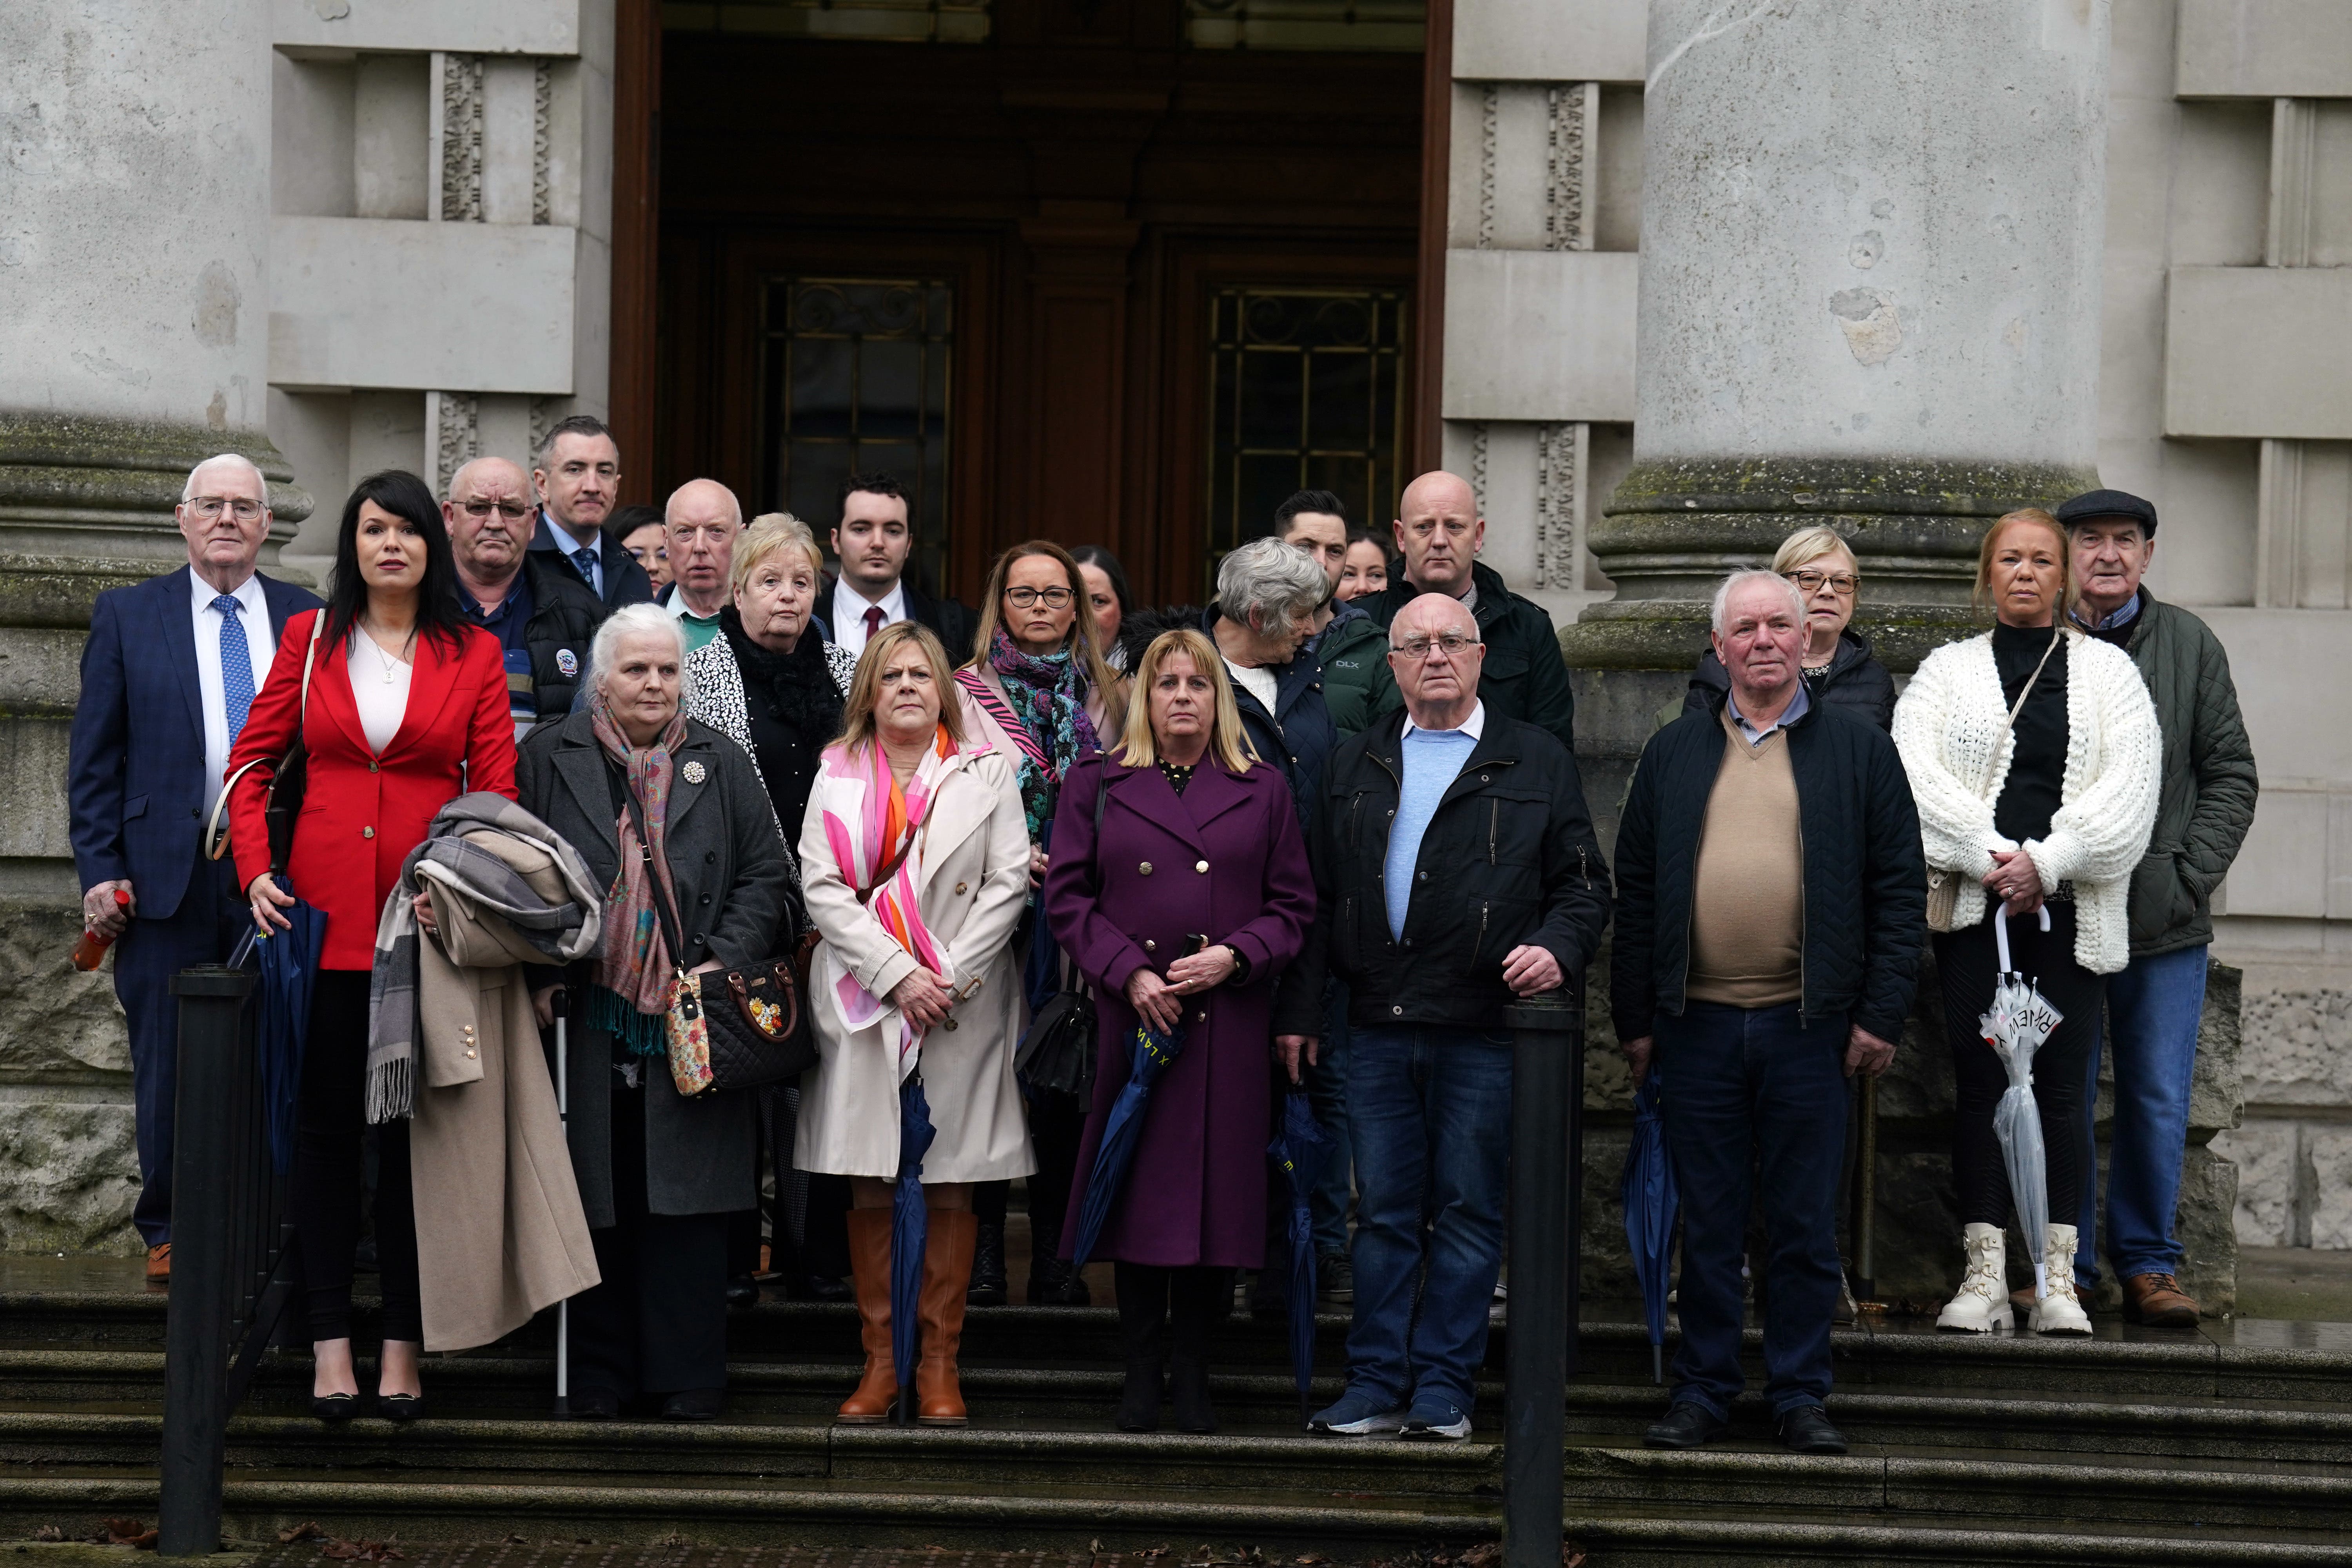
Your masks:
<svg viewBox="0 0 2352 1568"><path fill-rule="evenodd" d="M200 964L179 997L172 1309L165 1321L158 1552L221 1547L228 1418L294 1300L287 1178L270 1159L254 973Z"/></svg>

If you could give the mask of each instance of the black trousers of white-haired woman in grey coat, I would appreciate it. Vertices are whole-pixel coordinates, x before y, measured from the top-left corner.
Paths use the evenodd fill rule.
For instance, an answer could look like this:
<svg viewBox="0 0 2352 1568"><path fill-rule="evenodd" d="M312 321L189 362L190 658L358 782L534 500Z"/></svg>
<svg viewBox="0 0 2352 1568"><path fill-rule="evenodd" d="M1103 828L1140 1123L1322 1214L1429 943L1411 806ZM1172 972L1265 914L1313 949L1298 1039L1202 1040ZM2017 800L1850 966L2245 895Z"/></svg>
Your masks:
<svg viewBox="0 0 2352 1568"><path fill-rule="evenodd" d="M644 1206L644 1088L612 1086L612 1206L590 1229L602 1284L572 1298L572 1387L680 1394L727 1387L724 1213Z"/></svg>

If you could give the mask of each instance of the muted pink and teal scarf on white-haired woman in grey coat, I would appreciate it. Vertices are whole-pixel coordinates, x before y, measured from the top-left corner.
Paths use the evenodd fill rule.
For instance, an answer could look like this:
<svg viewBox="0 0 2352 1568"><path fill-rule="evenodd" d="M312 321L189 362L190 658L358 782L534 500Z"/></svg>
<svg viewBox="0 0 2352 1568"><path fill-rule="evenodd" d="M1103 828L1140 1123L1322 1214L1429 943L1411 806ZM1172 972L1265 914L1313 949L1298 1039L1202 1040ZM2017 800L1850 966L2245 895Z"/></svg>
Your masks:
<svg viewBox="0 0 2352 1568"><path fill-rule="evenodd" d="M588 719L604 757L619 764L628 792L644 811L652 863L661 877L663 898L675 907L677 889L670 882L668 851L670 773L675 771L673 752L687 743L687 715L675 715L670 726L644 750L633 748L621 733L602 689L588 698ZM604 931L595 952L588 1023L619 1034L633 1056L663 1056L668 1051L663 1020L675 983L670 947L661 938L654 884L644 875L647 856L637 839L637 818L628 806L621 809L614 832L621 844L621 870L612 879L612 891L604 893Z"/></svg>

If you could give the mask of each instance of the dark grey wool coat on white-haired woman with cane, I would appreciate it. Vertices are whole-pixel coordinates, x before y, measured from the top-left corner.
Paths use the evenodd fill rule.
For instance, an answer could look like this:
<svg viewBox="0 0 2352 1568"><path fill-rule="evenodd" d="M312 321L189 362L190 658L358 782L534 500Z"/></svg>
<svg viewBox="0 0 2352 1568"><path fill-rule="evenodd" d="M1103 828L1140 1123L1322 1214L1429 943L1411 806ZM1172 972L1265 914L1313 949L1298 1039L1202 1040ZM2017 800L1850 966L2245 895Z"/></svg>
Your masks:
<svg viewBox="0 0 2352 1568"><path fill-rule="evenodd" d="M701 773L696 780L694 776ZM560 832L588 863L600 889L621 870L619 816L612 809L604 750L588 712L543 724L522 745L515 766L522 809ZM743 748L687 719L677 748L668 813L670 879L684 922L687 969L703 959L736 969L776 950L790 919L790 870L776 839L760 769ZM588 983L588 964L569 976ZM590 1229L616 1225L612 1194L612 1034L569 1032L572 1168ZM748 1093L701 1093L691 1100L670 1084L668 1063L644 1058L644 1201L649 1213L734 1213L757 1204L755 1103Z"/></svg>

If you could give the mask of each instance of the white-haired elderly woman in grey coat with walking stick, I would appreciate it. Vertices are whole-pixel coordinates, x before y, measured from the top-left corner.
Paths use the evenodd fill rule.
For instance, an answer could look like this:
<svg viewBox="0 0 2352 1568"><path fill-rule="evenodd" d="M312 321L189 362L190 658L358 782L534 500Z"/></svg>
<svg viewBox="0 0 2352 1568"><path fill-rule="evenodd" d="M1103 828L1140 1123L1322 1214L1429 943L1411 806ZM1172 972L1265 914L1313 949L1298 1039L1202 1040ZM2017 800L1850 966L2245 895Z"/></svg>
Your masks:
<svg viewBox="0 0 2352 1568"><path fill-rule="evenodd" d="M534 731L517 769L522 806L607 889L602 945L567 976L572 1168L604 1276L574 1300L574 1415L640 1394L668 1420L722 1408L727 1215L757 1204L755 1103L677 1093L663 1020L677 971L746 969L802 926L760 769L684 712L684 642L652 604L616 609L588 705ZM553 992L534 997L541 1020Z"/></svg>

